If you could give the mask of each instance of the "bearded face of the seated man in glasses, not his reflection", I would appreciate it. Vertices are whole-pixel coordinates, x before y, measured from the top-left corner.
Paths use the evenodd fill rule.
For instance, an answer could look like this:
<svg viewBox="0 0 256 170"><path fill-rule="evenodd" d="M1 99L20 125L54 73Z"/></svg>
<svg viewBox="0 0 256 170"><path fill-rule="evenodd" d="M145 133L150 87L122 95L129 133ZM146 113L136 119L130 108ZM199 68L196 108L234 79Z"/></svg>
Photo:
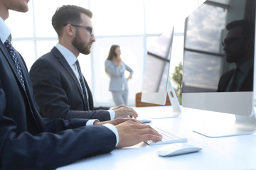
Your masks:
<svg viewBox="0 0 256 170"><path fill-rule="evenodd" d="M92 22L89 16L81 14L81 19L82 22L79 26L89 26L92 28ZM91 35L89 30L80 27L76 28L72 44L80 53L84 55L90 54L92 42L95 42L95 37L94 35Z"/></svg>

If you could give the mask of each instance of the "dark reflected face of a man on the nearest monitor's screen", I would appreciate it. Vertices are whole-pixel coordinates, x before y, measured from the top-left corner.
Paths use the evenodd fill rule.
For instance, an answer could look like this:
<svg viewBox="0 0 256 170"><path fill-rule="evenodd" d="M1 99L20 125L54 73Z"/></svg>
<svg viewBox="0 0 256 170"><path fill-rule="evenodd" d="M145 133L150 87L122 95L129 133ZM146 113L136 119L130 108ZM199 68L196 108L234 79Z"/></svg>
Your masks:
<svg viewBox="0 0 256 170"><path fill-rule="evenodd" d="M245 55L245 38L241 34L242 28L237 27L228 31L224 40L223 50L225 51L227 62L239 62Z"/></svg>

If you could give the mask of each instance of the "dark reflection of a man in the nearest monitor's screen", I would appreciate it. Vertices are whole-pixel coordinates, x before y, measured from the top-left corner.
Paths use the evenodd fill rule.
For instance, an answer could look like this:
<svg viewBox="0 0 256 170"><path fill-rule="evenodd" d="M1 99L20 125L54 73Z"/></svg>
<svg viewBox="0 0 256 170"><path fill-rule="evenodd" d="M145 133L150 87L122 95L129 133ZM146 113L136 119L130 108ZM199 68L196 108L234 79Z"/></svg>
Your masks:
<svg viewBox="0 0 256 170"><path fill-rule="evenodd" d="M255 22L239 20L228 23L223 41L225 60L235 63L235 69L225 72L218 84L218 92L252 91L255 45Z"/></svg>

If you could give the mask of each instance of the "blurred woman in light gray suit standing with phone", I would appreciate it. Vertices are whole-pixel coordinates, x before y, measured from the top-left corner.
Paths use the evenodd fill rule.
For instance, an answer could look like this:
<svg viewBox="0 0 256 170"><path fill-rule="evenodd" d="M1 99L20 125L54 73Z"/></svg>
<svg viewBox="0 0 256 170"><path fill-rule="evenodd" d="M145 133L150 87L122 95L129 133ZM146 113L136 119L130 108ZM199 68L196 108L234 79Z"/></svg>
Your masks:
<svg viewBox="0 0 256 170"><path fill-rule="evenodd" d="M121 60L121 50L119 45L112 45L110 53L105 61L105 70L110 76L110 91L116 106L127 105L128 85L127 81L132 79L133 71ZM129 72L129 77L124 77L124 72Z"/></svg>

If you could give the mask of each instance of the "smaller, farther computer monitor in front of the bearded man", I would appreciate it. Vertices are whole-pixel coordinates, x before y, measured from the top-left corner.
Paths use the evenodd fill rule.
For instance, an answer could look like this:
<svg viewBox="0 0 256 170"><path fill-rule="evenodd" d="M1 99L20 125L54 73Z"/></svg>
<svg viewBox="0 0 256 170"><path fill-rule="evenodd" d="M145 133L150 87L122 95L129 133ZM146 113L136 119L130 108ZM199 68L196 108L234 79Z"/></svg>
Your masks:
<svg viewBox="0 0 256 170"><path fill-rule="evenodd" d="M160 35L159 38L148 45L141 99L144 103L164 105L166 103L166 95L169 94L171 105L174 109L168 117L178 116L181 113L174 88L169 80L173 38L174 28L171 28L169 33Z"/></svg>

